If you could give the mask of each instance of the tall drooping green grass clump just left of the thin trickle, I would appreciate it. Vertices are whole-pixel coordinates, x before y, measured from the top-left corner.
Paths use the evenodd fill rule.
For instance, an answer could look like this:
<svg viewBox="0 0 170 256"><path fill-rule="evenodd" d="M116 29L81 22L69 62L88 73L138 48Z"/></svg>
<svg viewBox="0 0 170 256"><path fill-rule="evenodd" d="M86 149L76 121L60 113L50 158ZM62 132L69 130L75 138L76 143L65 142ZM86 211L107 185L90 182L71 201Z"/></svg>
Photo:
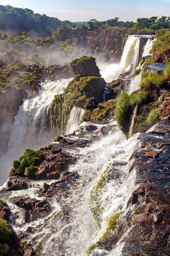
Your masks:
<svg viewBox="0 0 170 256"><path fill-rule="evenodd" d="M119 128L122 128L122 125L125 121L126 114L130 106L129 99L129 95L126 91L123 91L118 97L115 109L115 118Z"/></svg>

